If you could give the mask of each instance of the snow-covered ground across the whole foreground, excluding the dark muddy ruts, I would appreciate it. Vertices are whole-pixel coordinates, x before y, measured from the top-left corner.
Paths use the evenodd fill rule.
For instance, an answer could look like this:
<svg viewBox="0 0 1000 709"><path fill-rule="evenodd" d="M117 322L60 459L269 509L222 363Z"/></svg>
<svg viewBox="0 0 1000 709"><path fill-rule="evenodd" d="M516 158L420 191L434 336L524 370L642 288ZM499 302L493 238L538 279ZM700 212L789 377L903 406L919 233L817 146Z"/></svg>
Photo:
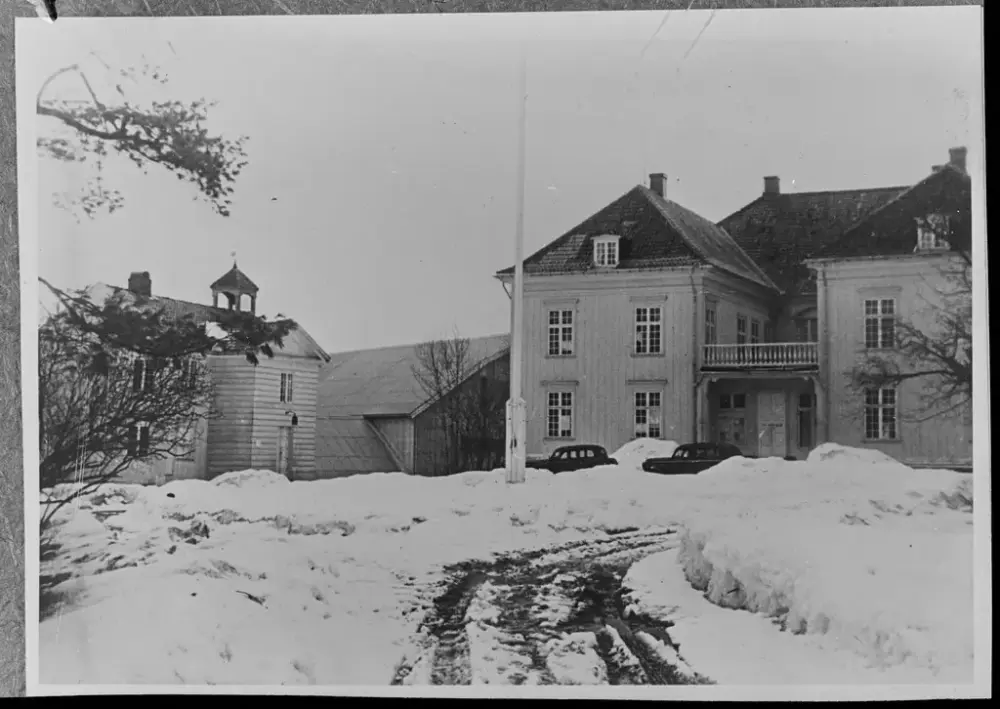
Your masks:
<svg viewBox="0 0 1000 709"><path fill-rule="evenodd" d="M672 444L649 444L517 486L503 471L106 486L56 518L40 681L384 685L420 654L446 566L663 528L678 531L622 584L628 611L673 624L676 650L636 637L677 666L721 684L972 681L971 476L833 445L657 476L641 460ZM499 629L524 619L496 620L517 588L498 583L472 589L459 619L466 680L608 681L579 630L531 669ZM566 584L525 601L536 625L569 612Z"/></svg>

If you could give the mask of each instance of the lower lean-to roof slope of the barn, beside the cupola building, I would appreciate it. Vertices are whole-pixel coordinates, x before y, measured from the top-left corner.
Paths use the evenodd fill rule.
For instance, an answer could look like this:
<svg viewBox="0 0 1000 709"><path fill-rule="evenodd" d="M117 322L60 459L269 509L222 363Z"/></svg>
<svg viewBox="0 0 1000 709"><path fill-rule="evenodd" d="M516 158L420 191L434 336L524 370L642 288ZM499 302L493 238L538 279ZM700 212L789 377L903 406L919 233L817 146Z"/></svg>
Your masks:
<svg viewBox="0 0 1000 709"><path fill-rule="evenodd" d="M316 422L316 469L323 477L398 471L392 456L361 417Z"/></svg>

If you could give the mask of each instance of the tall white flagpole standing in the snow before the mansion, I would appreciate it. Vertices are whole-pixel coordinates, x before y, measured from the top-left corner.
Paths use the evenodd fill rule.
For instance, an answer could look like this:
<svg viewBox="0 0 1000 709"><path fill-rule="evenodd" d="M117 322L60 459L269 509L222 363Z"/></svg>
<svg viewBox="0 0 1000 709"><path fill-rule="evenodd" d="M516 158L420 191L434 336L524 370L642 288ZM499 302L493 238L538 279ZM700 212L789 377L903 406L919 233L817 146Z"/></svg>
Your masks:
<svg viewBox="0 0 1000 709"><path fill-rule="evenodd" d="M527 61L524 48L519 58L518 135L517 135L517 228L514 236L514 291L511 296L510 401L507 402L507 482L525 479L524 436L526 407L521 392L521 364L524 356L524 173L525 133L527 124Z"/></svg>

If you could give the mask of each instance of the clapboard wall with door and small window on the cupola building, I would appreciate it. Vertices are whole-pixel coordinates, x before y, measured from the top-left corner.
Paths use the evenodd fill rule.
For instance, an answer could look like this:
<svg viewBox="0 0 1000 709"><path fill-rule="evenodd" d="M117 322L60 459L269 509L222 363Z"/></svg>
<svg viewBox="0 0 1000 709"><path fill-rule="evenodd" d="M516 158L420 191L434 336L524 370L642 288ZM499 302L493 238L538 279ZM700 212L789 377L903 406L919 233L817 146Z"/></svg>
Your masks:
<svg viewBox="0 0 1000 709"><path fill-rule="evenodd" d="M311 357L279 354L257 366L254 389L253 454L255 468L277 467L278 432L290 426L294 411L298 425L293 432L293 477L316 477L316 390L320 361ZM281 401L281 375L292 374L292 400Z"/></svg>

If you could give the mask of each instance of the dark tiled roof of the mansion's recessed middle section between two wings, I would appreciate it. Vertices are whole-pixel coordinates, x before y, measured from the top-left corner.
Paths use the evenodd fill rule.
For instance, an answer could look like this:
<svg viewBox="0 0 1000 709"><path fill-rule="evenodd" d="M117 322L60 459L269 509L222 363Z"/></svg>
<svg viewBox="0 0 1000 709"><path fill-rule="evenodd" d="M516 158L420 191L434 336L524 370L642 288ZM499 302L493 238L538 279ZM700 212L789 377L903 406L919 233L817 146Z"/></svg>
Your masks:
<svg viewBox="0 0 1000 709"><path fill-rule="evenodd" d="M906 187L765 194L719 222L782 290L814 285L803 260Z"/></svg>

